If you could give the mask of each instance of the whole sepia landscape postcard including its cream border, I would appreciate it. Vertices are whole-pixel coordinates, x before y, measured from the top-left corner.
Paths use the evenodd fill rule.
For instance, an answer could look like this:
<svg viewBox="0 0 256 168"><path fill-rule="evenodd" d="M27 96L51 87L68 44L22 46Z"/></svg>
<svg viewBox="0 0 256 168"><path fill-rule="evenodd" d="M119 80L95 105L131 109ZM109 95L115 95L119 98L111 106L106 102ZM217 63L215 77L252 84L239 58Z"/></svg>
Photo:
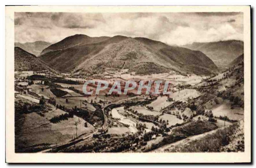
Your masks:
<svg viewBox="0 0 256 168"><path fill-rule="evenodd" d="M13 156L250 162L250 6L111 8L6 7Z"/></svg>

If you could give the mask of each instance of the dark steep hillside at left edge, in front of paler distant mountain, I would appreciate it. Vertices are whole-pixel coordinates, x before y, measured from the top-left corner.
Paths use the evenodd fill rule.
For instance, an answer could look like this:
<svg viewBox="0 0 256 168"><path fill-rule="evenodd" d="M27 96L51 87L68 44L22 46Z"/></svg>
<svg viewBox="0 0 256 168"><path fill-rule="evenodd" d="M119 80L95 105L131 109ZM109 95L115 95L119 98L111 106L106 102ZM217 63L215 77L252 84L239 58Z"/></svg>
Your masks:
<svg viewBox="0 0 256 168"><path fill-rule="evenodd" d="M36 55L30 54L27 51L21 49L20 47L14 47L14 69L15 71L49 70L52 72L56 72L48 65L46 65L42 60L38 59Z"/></svg>

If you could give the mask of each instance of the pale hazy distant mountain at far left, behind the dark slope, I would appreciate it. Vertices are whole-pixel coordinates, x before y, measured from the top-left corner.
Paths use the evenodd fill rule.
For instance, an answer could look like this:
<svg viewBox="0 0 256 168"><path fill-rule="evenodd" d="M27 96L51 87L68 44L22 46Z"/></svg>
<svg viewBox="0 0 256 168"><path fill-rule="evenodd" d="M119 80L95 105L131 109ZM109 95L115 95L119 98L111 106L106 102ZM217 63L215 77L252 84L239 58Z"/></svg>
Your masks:
<svg viewBox="0 0 256 168"><path fill-rule="evenodd" d="M50 46L51 43L45 42L45 41L35 41L35 42L27 42L27 43L14 43L15 47L20 47L23 50L39 56L39 54L43 51L44 48Z"/></svg>

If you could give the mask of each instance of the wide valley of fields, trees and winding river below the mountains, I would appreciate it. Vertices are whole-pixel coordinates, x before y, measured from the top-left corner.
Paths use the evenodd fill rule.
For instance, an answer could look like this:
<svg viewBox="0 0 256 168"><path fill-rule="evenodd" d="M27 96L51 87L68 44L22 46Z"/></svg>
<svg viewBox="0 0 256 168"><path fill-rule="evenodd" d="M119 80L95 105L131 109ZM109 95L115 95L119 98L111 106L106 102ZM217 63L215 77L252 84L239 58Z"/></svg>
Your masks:
<svg viewBox="0 0 256 168"><path fill-rule="evenodd" d="M213 77L116 74L122 80L169 79L174 85L168 97L86 96L86 77L65 74L49 82L28 80L31 73L22 73L15 77L15 151L244 151L241 73L237 67Z"/></svg>

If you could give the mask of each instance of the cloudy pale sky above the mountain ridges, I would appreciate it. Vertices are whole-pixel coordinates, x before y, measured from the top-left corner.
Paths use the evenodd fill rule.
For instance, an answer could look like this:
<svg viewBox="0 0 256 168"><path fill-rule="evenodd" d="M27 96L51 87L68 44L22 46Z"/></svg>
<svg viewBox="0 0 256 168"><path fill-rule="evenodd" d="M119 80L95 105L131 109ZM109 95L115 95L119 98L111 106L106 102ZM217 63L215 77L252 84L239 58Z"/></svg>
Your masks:
<svg viewBox="0 0 256 168"><path fill-rule="evenodd" d="M51 43L68 36L124 35L169 45L243 40L242 12L68 13L15 12L15 42Z"/></svg>

